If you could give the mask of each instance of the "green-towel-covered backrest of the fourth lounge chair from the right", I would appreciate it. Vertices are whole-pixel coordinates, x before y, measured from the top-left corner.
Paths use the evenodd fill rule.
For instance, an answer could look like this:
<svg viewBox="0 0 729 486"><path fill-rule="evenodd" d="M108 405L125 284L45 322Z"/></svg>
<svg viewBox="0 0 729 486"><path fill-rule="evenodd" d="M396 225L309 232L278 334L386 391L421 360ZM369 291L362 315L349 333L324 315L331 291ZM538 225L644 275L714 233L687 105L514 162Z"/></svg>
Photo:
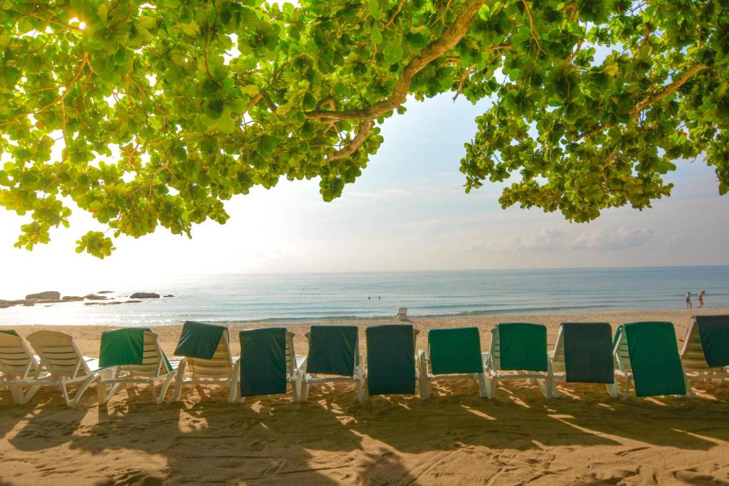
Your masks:
<svg viewBox="0 0 729 486"><path fill-rule="evenodd" d="M491 329L495 369L547 371L547 327L543 324L499 323Z"/></svg>

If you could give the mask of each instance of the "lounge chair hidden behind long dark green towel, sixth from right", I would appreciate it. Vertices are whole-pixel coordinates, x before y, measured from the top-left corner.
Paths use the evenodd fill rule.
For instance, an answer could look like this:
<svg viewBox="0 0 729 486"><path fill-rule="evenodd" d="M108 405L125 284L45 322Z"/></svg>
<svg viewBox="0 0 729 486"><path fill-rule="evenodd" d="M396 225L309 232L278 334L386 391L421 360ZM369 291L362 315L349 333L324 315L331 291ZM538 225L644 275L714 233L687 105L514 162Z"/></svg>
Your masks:
<svg viewBox="0 0 729 486"><path fill-rule="evenodd" d="M412 324L367 326L365 395L414 395L416 389L415 340Z"/></svg>

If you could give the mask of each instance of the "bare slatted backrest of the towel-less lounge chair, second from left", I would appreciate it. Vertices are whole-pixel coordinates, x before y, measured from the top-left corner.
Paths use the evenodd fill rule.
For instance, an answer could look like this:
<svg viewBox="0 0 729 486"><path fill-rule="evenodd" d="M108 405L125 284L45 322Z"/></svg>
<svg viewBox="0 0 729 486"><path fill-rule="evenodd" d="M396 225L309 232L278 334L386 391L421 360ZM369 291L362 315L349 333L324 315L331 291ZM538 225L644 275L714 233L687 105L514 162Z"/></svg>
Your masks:
<svg viewBox="0 0 729 486"><path fill-rule="evenodd" d="M74 342L74 338L63 332L36 331L27 337L41 363L56 379L76 378L89 375L84 357Z"/></svg>

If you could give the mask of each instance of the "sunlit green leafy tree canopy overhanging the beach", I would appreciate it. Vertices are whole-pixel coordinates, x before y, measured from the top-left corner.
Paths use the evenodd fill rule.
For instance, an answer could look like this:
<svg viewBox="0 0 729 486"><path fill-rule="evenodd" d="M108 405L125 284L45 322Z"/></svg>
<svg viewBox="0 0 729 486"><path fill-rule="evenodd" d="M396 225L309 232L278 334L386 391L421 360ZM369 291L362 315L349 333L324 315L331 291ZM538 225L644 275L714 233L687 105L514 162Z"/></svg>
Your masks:
<svg viewBox="0 0 729 486"><path fill-rule="evenodd" d="M492 99L461 172L467 192L513 178L504 207L649 207L700 154L729 190L729 0L0 0L0 27L21 247L71 201L140 237L223 223L223 201L281 176L332 200L408 95Z"/></svg>

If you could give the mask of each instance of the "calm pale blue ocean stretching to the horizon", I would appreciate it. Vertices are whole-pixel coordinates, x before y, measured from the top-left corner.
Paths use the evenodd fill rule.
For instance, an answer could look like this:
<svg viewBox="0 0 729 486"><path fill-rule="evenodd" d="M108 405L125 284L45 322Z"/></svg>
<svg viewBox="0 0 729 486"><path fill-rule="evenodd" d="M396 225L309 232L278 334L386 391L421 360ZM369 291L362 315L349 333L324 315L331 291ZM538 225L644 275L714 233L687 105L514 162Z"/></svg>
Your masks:
<svg viewBox="0 0 729 486"><path fill-rule="evenodd" d="M148 288L109 290L121 300L134 291L175 297L122 305L9 307L0 309L0 324L310 323L391 317L398 307L408 307L415 316L668 310L685 306L686 291L697 307L701 290L706 291L705 307L729 307L729 266L196 275L157 278Z"/></svg>

